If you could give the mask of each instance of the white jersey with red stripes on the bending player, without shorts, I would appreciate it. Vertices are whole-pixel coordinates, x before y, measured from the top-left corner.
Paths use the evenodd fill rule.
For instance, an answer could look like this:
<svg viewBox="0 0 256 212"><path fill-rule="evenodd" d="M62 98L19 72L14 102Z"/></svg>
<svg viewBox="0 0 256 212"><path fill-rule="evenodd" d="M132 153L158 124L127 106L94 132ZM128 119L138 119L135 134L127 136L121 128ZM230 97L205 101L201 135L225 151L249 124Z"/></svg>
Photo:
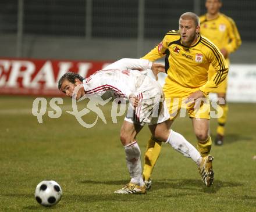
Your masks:
<svg viewBox="0 0 256 212"><path fill-rule="evenodd" d="M152 62L144 59L121 59L95 72L83 81L86 95L99 95L102 99L125 98L136 95L136 90L143 83L145 74L138 70L151 69Z"/></svg>

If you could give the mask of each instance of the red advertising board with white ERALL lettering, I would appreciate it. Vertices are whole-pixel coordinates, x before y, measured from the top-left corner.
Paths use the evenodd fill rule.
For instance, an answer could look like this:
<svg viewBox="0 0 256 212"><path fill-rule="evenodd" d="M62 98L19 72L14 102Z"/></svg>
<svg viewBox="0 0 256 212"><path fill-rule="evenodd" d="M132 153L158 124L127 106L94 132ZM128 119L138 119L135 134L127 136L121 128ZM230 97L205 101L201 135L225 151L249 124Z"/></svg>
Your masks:
<svg viewBox="0 0 256 212"><path fill-rule="evenodd" d="M87 78L109 62L0 59L0 94L59 96L58 80L67 71Z"/></svg>

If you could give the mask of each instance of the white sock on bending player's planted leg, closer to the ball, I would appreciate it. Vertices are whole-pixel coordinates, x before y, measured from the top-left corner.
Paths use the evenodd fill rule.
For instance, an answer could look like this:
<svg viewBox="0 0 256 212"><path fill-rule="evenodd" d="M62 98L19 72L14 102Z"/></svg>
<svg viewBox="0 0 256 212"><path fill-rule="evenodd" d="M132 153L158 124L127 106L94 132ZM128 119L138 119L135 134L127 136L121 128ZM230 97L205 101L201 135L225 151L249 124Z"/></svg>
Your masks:
<svg viewBox="0 0 256 212"><path fill-rule="evenodd" d="M140 148L137 141L125 146L126 165L133 184L143 186L144 181L141 174Z"/></svg>

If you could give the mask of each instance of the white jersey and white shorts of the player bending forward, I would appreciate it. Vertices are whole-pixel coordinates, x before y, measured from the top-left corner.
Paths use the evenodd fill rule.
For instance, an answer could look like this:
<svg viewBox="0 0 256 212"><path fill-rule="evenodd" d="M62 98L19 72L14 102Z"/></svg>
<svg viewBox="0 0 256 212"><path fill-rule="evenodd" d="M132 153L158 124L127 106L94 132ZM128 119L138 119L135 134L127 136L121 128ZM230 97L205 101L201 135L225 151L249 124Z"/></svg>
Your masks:
<svg viewBox="0 0 256 212"><path fill-rule="evenodd" d="M101 99L137 96L141 105L129 104L126 121L136 124L156 124L168 120L161 85L141 71L151 69L152 62L145 59L121 59L97 71L83 81L86 96L100 96ZM133 69L139 69L133 70Z"/></svg>

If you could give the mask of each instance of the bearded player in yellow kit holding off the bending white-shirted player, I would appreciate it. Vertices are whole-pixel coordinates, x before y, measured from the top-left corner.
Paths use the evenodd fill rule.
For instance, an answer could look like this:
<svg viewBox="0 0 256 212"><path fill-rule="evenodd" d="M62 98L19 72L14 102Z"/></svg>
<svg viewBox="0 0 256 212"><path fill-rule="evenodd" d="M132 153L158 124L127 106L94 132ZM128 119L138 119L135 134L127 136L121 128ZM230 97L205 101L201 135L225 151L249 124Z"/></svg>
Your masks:
<svg viewBox="0 0 256 212"><path fill-rule="evenodd" d="M155 61L165 56L165 71L168 76L163 85L166 102L169 102L169 127L186 108L191 118L202 157L212 168L211 137L209 136L208 94L218 88L228 72L227 63L219 49L207 38L200 35L199 18L188 12L180 16L179 31L169 31L151 52L143 57ZM210 64L215 74L208 80ZM202 98L204 101L202 102ZM191 100L193 99L193 100ZM143 177L147 188L151 186L151 174L161 151L161 142L150 138L145 152ZM213 182L214 173L212 171ZM201 173L204 180L204 173Z"/></svg>

